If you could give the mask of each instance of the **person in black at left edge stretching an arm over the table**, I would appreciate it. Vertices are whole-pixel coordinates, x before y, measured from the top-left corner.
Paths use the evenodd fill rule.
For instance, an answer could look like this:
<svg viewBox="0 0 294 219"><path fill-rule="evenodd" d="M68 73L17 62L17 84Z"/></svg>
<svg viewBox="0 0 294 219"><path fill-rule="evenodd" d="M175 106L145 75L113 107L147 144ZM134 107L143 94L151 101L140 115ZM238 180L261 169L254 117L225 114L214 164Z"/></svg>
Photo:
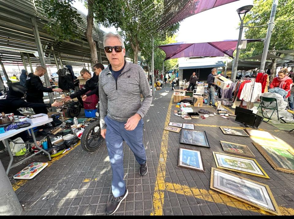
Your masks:
<svg viewBox="0 0 294 219"><path fill-rule="evenodd" d="M54 102L53 104L44 103L28 103L21 99L25 95L26 88L20 84L12 83L8 84L9 91L7 95L0 98L0 112L5 114L13 113L14 115L23 115L18 111L21 107L31 107L31 108L46 108L46 107L57 107L61 106L61 102Z"/></svg>

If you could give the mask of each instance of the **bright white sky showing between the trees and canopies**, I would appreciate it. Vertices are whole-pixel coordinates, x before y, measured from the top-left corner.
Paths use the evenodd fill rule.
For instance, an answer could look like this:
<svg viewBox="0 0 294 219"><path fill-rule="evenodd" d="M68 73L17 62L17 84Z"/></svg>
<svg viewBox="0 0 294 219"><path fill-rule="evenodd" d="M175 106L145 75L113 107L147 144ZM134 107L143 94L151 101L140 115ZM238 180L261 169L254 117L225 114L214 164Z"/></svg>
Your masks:
<svg viewBox="0 0 294 219"><path fill-rule="evenodd" d="M73 2L74 7L87 14L88 10L83 3L75 1ZM178 42L213 42L238 39L239 29L237 28L240 19L236 10L244 5L253 5L253 0L239 0L184 19L176 33ZM115 27L100 26L100 29L116 32Z"/></svg>

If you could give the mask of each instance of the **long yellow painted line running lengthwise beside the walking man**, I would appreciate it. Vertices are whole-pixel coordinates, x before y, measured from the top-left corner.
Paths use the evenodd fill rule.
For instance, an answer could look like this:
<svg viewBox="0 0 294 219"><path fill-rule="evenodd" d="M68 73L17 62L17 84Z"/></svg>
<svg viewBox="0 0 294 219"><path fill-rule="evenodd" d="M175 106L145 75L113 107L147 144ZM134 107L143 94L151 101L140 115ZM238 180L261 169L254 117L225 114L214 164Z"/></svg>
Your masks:
<svg viewBox="0 0 294 219"><path fill-rule="evenodd" d="M173 101L173 95L171 96L171 100L168 105L168 111L166 113L165 119L165 126L168 126L170 117L171 117L171 105ZM164 189L165 184L165 169L166 169L166 157L168 153L168 131L164 130L162 134L162 141L161 141L161 148L160 148L160 157L157 167L157 175L156 175L156 182L155 188L153 193L153 209L154 213L152 212L150 215L163 215L163 204L164 204L164 192L160 190Z"/></svg>

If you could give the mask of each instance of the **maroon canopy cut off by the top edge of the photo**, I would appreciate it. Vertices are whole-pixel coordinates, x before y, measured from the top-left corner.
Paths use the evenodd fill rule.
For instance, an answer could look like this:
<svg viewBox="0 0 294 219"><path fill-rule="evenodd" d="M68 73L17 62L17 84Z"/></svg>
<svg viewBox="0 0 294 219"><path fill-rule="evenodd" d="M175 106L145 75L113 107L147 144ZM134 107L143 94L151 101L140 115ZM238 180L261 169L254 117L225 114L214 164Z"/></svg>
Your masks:
<svg viewBox="0 0 294 219"><path fill-rule="evenodd" d="M161 21L159 29L164 29L164 27L194 14L236 1L238 0L165 0L164 19Z"/></svg>

